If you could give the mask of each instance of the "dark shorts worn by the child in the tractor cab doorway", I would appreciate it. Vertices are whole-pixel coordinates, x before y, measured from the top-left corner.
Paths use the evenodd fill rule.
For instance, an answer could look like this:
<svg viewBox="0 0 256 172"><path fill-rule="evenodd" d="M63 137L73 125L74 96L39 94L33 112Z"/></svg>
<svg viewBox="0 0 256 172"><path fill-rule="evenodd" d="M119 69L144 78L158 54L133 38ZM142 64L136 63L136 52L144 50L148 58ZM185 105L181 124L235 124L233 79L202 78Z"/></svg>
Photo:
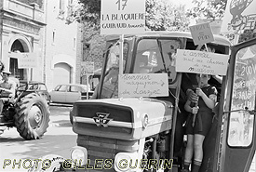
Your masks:
<svg viewBox="0 0 256 172"><path fill-rule="evenodd" d="M209 132L210 126L212 124L213 112L197 112L195 118L195 126L193 127L193 115L189 114L186 123L186 134L188 135L203 135L206 136Z"/></svg>

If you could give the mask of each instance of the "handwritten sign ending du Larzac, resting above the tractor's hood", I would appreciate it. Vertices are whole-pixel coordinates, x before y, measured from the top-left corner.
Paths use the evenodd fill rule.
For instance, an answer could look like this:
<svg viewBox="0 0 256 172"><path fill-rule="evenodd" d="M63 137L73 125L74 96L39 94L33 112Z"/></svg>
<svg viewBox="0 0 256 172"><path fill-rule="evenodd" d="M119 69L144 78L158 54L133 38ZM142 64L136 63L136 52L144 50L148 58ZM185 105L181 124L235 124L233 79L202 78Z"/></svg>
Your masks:
<svg viewBox="0 0 256 172"><path fill-rule="evenodd" d="M121 98L168 96L168 74L122 74L118 90Z"/></svg>

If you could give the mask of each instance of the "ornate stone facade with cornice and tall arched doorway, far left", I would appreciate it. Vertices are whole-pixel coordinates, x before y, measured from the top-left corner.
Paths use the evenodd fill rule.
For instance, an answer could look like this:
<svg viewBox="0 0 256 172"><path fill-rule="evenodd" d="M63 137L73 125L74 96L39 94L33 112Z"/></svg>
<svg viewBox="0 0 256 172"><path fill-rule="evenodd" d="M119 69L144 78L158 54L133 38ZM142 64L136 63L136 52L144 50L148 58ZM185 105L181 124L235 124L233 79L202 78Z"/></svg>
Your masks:
<svg viewBox="0 0 256 172"><path fill-rule="evenodd" d="M36 4L14 0L0 1L0 55L6 70L20 80L42 80L43 42L46 26L44 11ZM36 52L37 69L19 69L17 53Z"/></svg>

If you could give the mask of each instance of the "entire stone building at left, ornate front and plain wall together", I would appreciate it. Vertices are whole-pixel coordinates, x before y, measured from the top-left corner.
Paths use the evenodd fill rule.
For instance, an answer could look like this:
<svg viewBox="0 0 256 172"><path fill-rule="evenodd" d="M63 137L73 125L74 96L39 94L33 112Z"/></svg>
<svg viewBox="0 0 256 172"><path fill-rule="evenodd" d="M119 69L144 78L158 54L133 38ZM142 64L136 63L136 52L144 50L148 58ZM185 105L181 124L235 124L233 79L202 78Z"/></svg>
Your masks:
<svg viewBox="0 0 256 172"><path fill-rule="evenodd" d="M36 2L31 3L31 2ZM79 83L81 27L66 24L74 0L1 0L0 60L13 76L41 81L49 90ZM36 68L19 69L19 53L36 53ZM78 70L78 71L77 71Z"/></svg>

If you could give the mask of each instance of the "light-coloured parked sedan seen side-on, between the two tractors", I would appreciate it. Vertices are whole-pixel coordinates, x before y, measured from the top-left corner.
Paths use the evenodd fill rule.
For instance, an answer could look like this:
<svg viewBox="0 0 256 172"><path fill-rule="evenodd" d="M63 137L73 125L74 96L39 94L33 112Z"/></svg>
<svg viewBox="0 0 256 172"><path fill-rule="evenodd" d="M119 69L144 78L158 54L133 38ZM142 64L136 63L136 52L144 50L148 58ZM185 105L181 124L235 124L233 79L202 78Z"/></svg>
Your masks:
<svg viewBox="0 0 256 172"><path fill-rule="evenodd" d="M87 99L87 86L78 84L58 85L49 92L51 101L57 103L74 103L79 99ZM92 96L93 91L88 87L88 97Z"/></svg>

